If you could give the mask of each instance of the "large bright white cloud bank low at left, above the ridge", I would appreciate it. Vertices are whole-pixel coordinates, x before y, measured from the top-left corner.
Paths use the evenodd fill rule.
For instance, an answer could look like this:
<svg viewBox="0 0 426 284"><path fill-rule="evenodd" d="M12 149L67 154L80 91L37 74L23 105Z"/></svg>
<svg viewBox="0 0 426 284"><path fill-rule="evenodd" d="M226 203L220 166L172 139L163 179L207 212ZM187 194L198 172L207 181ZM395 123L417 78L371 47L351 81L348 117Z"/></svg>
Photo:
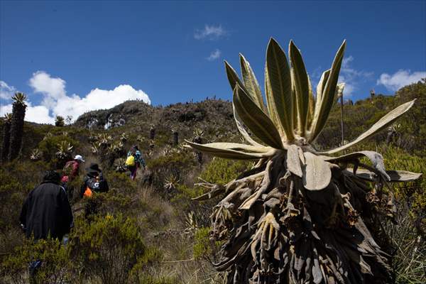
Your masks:
<svg viewBox="0 0 426 284"><path fill-rule="evenodd" d="M89 94L80 97L77 94L67 95L65 80L60 77L52 77L47 72L37 71L29 80L29 85L36 94L40 94L42 100L39 105L33 106L27 102L26 121L33 121L40 124L54 124L55 116L78 116L87 111L97 109L109 109L126 102L130 99L140 99L147 104L151 104L148 94L141 89L133 89L129 84L120 84L114 89L92 89ZM0 81L0 87L6 90L9 87L5 82ZM13 88L14 90L14 88ZM4 116L12 111L12 104L1 106L0 115Z"/></svg>

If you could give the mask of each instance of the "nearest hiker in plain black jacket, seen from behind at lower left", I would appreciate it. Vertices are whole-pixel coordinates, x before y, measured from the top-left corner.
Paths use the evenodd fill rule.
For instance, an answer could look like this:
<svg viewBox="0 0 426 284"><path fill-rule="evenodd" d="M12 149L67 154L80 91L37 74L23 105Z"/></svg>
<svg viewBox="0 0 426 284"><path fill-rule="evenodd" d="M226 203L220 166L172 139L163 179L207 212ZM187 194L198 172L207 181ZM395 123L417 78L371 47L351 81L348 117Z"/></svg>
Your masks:
<svg viewBox="0 0 426 284"><path fill-rule="evenodd" d="M45 172L43 182L32 190L23 203L19 217L21 228L27 238L39 239L62 238L73 226L72 211L65 189L60 186L60 174L54 170ZM29 266L31 283L42 262L31 261Z"/></svg>

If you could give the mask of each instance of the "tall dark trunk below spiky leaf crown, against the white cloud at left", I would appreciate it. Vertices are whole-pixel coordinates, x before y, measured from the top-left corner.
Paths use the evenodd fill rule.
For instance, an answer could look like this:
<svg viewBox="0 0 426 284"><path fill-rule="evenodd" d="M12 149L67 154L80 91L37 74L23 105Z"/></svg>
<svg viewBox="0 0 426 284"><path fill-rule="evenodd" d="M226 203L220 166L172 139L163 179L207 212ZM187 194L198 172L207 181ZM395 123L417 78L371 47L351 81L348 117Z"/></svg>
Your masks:
<svg viewBox="0 0 426 284"><path fill-rule="evenodd" d="M18 158L22 146L23 119L25 117L26 106L24 104L14 103L11 120L11 140L9 144L9 161Z"/></svg>

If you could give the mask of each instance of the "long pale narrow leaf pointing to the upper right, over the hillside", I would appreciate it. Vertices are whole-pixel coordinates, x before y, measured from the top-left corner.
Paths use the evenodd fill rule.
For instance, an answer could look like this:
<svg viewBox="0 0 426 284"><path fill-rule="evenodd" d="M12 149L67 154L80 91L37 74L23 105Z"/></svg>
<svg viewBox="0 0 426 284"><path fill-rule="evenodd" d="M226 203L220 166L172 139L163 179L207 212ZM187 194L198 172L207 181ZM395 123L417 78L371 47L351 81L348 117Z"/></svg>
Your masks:
<svg viewBox="0 0 426 284"><path fill-rule="evenodd" d="M415 99L411 102L406 102L405 104L401 104L399 107L393 109L392 111L389 111L386 116L383 116L381 119L379 119L373 126L371 126L370 129L368 129L366 132L362 133L358 138L356 138L354 141L345 144L344 146L341 146L339 148L335 148L329 151L322 151L319 152L320 154L329 155L334 154L339 151L343 151L351 146L354 146L357 143L360 143L361 141L364 141L366 138L369 138L373 136L374 134L378 133L378 131L381 131L389 124L392 124L395 119L398 119L399 116L405 114L411 107L413 107L413 104L415 102Z"/></svg>

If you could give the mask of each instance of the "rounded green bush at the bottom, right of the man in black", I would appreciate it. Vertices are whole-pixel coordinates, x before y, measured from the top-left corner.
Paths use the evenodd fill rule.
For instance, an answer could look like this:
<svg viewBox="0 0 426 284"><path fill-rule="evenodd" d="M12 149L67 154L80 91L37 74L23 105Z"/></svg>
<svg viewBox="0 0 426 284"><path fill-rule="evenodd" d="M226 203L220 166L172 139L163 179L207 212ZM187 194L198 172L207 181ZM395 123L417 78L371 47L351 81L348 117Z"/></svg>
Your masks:
<svg viewBox="0 0 426 284"><path fill-rule="evenodd" d="M121 214L96 217L92 222L78 219L71 237L72 252L80 259L84 274L106 284L126 283L146 253L136 222Z"/></svg>

